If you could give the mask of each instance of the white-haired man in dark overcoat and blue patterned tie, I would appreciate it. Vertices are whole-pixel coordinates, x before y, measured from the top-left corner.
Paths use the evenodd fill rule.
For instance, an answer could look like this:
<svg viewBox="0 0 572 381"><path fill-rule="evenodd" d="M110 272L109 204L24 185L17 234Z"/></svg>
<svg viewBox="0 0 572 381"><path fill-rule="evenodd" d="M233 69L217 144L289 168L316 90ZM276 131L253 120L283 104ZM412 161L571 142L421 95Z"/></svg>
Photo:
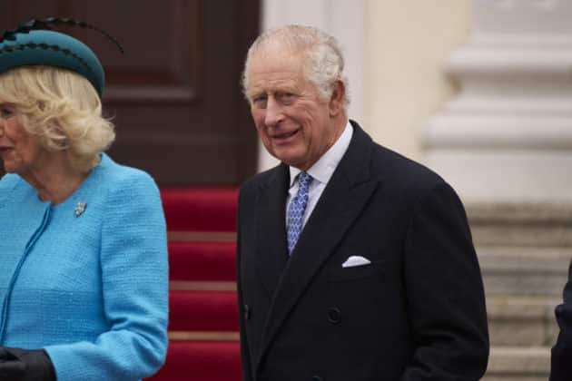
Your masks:
<svg viewBox="0 0 572 381"><path fill-rule="evenodd" d="M349 121L335 39L262 34L243 86L281 160L240 192L244 381L480 378L487 314L463 206Z"/></svg>

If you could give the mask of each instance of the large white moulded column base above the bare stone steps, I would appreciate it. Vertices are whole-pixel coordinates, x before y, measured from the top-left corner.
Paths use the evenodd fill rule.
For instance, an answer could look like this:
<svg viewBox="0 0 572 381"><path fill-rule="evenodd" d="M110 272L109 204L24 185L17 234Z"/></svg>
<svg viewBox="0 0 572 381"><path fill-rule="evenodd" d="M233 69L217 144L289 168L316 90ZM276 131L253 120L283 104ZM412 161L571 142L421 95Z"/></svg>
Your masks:
<svg viewBox="0 0 572 381"><path fill-rule="evenodd" d="M572 202L572 1L475 0L425 160L476 204Z"/></svg>

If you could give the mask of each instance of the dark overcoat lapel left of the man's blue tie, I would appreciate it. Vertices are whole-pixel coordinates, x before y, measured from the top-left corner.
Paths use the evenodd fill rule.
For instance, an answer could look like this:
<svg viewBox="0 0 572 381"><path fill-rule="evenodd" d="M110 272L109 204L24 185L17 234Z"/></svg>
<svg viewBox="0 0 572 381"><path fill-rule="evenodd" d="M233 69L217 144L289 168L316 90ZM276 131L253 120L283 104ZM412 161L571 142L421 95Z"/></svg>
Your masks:
<svg viewBox="0 0 572 381"><path fill-rule="evenodd" d="M256 234L259 247L256 249L256 267L262 283L274 294L288 260L286 246L286 196L290 185L288 166L281 164L271 179L262 184L261 195L256 205Z"/></svg>

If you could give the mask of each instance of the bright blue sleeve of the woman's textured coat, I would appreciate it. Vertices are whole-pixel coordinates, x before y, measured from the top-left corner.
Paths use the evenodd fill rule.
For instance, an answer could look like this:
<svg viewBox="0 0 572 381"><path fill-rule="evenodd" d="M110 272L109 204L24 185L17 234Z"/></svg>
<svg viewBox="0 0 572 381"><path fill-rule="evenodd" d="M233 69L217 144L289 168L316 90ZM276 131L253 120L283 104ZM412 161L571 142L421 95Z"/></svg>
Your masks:
<svg viewBox="0 0 572 381"><path fill-rule="evenodd" d="M94 342L45 347L58 381L139 380L159 369L166 354L168 263L159 190L136 171L110 187L105 205L100 264L109 329Z"/></svg>

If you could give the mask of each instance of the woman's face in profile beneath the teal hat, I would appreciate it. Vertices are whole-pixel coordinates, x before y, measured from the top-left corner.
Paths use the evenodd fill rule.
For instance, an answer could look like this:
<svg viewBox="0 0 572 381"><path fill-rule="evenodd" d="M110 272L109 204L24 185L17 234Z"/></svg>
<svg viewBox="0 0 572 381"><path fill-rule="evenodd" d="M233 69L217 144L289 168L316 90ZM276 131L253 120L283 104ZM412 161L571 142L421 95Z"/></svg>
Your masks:
<svg viewBox="0 0 572 381"><path fill-rule="evenodd" d="M0 158L5 171L25 175L38 170L44 151L37 138L25 131L15 107L0 101Z"/></svg>

